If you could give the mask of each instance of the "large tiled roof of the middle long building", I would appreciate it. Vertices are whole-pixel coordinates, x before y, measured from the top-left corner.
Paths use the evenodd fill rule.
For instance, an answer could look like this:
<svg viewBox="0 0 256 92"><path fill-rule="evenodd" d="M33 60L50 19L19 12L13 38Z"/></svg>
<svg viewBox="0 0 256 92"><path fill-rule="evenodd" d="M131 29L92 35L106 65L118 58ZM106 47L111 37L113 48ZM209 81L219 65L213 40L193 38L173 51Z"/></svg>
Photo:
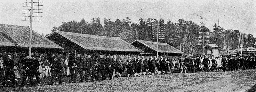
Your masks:
<svg viewBox="0 0 256 92"><path fill-rule="evenodd" d="M68 40L76 43L86 50L106 50L106 51L128 51L140 52L128 42L119 37L107 37L90 34L78 34L71 32L56 31L48 37L60 34Z"/></svg>

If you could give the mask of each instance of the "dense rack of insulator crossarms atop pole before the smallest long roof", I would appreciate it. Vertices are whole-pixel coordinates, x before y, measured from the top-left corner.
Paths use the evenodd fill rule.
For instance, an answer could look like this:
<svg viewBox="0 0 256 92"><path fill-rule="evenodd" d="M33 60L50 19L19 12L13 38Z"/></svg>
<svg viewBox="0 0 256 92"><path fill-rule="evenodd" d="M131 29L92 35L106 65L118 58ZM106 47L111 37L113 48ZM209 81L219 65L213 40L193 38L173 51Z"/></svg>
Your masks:
<svg viewBox="0 0 256 92"><path fill-rule="evenodd" d="M157 38L157 20L152 21L152 39ZM164 25L164 19L159 20L159 33L158 33L158 38L159 39L164 39L165 38L165 25Z"/></svg>

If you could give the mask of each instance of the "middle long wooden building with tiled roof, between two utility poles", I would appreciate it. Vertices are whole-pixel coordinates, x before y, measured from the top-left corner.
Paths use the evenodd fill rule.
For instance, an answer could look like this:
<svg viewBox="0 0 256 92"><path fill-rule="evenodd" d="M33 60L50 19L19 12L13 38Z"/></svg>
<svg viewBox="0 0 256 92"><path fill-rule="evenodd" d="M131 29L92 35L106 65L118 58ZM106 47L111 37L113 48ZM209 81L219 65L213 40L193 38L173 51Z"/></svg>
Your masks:
<svg viewBox="0 0 256 92"><path fill-rule="evenodd" d="M82 52L84 54L102 53L110 54L111 57L115 54L117 58L121 59L128 58L129 55L139 55L141 52L119 37L56 31L51 33L47 38L69 52L76 50L76 52Z"/></svg>

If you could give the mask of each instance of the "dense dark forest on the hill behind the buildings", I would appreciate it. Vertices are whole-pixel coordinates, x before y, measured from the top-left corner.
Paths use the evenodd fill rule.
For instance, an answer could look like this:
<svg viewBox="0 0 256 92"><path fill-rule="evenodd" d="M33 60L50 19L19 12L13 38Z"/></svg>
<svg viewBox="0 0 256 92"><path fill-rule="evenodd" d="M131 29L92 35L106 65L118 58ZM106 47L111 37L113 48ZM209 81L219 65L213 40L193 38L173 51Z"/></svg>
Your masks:
<svg viewBox="0 0 256 92"><path fill-rule="evenodd" d="M56 30L81 33L81 34L92 34L100 36L119 37L126 42L131 43L136 39L156 41L151 39L151 25L156 19L143 19L140 18L137 23L133 23L128 17L126 19L116 19L111 21L110 19L103 19L104 25L101 25L101 18L92 18L90 22L81 19L80 22L69 21L63 22L59 27L53 27L52 32ZM180 42L179 36L181 36L181 51L185 53L191 53L191 47L194 55L202 55L202 47L198 46L199 32L209 32L209 43L217 44L221 46L223 39L232 39L232 48L235 50L238 48L239 41L239 30L225 30L216 24L213 24L213 32L209 28L204 26L204 22L195 23L193 21L185 21L179 19L178 23L172 23L167 21L165 24L165 39L160 39L159 42L167 42L173 47L179 49ZM188 35L189 34L189 35ZM47 35L46 35L47 36ZM255 46L255 39L252 34L242 33L244 40L243 46Z"/></svg>

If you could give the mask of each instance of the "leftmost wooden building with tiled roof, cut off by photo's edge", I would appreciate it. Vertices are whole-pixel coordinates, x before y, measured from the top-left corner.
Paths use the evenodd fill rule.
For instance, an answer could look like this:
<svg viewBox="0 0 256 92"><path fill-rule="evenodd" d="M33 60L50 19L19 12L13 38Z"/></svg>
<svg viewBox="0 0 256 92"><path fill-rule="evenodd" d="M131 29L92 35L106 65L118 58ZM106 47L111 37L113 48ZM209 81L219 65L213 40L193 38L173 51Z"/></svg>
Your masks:
<svg viewBox="0 0 256 92"><path fill-rule="evenodd" d="M0 55L12 53L15 58L28 52L29 27L0 24ZM32 56L59 52L63 48L32 31Z"/></svg>

